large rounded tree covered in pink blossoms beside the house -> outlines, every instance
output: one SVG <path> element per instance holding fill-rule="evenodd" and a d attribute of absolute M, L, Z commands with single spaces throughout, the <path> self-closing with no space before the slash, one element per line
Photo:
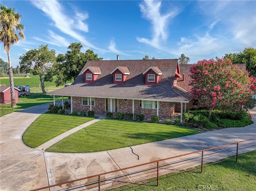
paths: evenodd
<path fill-rule="evenodd" d="M 194 99 L 198 106 L 212 110 L 248 110 L 256 105 L 252 94 L 256 92 L 256 78 L 248 71 L 232 65 L 230 59 L 198 61 L 190 68 Z"/>

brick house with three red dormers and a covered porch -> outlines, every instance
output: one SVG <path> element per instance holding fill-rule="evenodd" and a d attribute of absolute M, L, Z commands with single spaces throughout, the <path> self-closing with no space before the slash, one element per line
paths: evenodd
<path fill-rule="evenodd" d="M 48 95 L 70 96 L 71 112 L 130 112 L 169 118 L 192 98 L 178 59 L 99 60 L 86 65 L 68 87 Z"/>

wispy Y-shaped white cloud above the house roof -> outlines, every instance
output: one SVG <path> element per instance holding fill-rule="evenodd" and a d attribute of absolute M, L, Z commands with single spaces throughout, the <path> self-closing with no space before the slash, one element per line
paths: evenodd
<path fill-rule="evenodd" d="M 149 44 L 157 49 L 161 49 L 161 41 L 166 41 L 168 31 L 166 30 L 170 18 L 174 18 L 178 14 L 178 9 L 173 8 L 172 11 L 161 14 L 161 2 L 154 0 L 145 0 L 140 4 L 142 16 L 148 19 L 152 24 L 153 37 L 152 39 L 137 37 L 141 43 Z"/>

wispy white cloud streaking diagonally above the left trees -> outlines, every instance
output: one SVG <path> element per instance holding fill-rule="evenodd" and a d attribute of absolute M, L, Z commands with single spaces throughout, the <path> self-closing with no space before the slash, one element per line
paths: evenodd
<path fill-rule="evenodd" d="M 77 29 L 88 32 L 88 26 L 83 22 L 83 20 L 88 18 L 88 14 L 80 14 L 76 12 L 74 18 L 70 18 L 64 14 L 61 4 L 56 0 L 32 0 L 32 3 L 38 9 L 42 10 L 46 16 L 53 21 L 53 25 L 61 32 L 77 39 L 83 45 L 100 50 L 100 48 L 86 40 L 84 35 L 80 35 L 77 32 Z"/>

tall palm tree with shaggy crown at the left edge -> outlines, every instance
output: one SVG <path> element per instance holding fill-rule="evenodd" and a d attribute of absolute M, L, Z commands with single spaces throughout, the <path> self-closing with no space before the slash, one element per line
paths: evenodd
<path fill-rule="evenodd" d="M 20 41 L 19 36 L 25 40 L 25 35 L 23 33 L 25 27 L 24 25 L 20 24 L 21 15 L 19 13 L 15 13 L 14 8 L 7 8 L 1 4 L 0 9 L 0 41 L 4 44 L 4 51 L 8 54 L 12 107 L 17 107 L 14 92 L 10 49 L 11 45 Z"/>

